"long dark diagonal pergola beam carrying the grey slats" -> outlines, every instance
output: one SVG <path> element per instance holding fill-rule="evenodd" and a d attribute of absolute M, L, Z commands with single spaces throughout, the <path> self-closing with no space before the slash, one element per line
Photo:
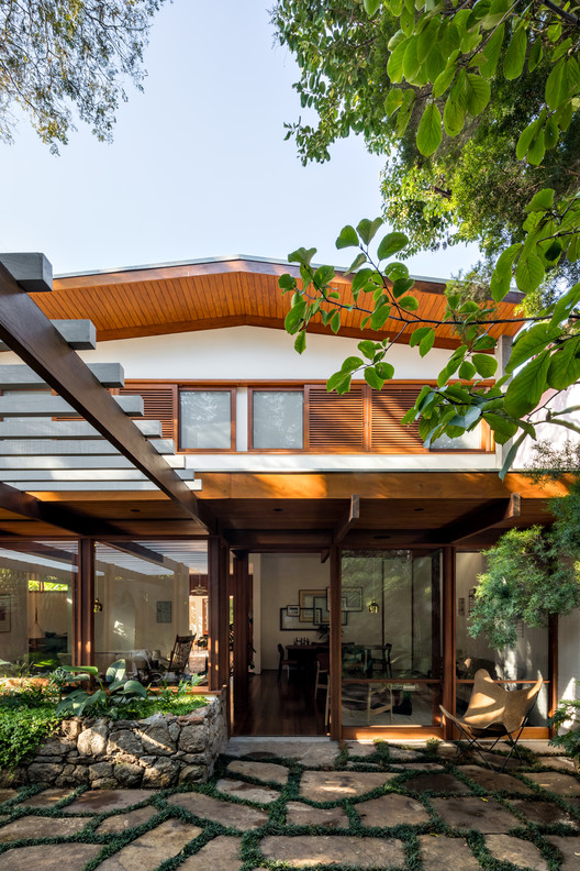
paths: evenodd
<path fill-rule="evenodd" d="M 81 417 L 126 456 L 200 528 L 212 516 L 127 420 L 83 361 L 0 263 L 0 339 Z"/>

